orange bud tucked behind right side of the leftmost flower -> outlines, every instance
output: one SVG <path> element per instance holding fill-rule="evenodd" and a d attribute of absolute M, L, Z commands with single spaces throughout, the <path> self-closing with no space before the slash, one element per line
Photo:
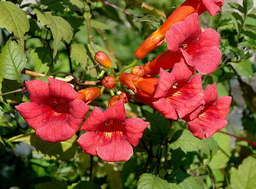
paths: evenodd
<path fill-rule="evenodd" d="M 91 103 L 94 99 L 101 96 L 101 89 L 99 87 L 88 87 L 78 92 L 77 100 L 82 100 L 86 104 Z"/>

